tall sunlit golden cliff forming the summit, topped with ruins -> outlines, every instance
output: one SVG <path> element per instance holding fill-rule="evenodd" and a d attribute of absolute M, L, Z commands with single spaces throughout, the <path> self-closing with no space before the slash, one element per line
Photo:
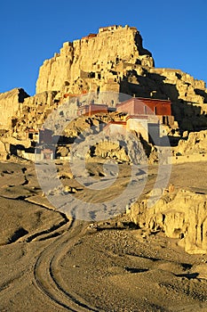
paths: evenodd
<path fill-rule="evenodd" d="M 142 47 L 139 31 L 128 26 L 105 29 L 95 36 L 67 42 L 46 60 L 39 71 L 36 93 L 63 90 L 81 94 L 100 91 L 117 85 L 123 67 L 133 65 L 153 67 L 151 53 Z M 120 66 L 121 70 L 116 70 Z M 118 91 L 118 90 L 116 90 Z"/>

